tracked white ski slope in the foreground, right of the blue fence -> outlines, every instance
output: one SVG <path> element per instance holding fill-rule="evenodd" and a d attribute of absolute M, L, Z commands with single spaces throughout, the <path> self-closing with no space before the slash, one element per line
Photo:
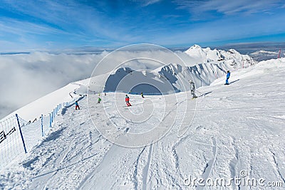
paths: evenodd
<path fill-rule="evenodd" d="M 101 95 L 101 104 L 88 105 L 87 98 L 83 98 L 79 102 L 81 110 L 66 107 L 56 117 L 48 137 L 26 157 L 1 171 L 0 189 L 219 189 L 188 182 L 195 177 L 242 178 L 241 171 L 251 179 L 264 178 L 265 186 L 270 181 L 285 186 L 284 75 L 284 58 L 236 70 L 230 85 L 224 85 L 224 78 L 219 78 L 199 88 L 204 96 L 197 98 L 197 107 L 190 104 L 191 109 L 186 111 L 173 109 L 177 114 L 163 101 L 175 100 L 170 107 L 183 107 L 195 102 L 185 100 L 189 92 L 146 95 L 145 99 L 130 95 L 132 107 L 123 106 L 123 93 Z M 88 95 L 88 102 L 95 102 L 97 97 Z M 113 105 L 118 105 L 117 109 Z M 192 108 L 195 117 L 190 127 L 177 137 L 182 115 L 193 115 Z M 153 112 L 145 122 L 135 122 L 145 116 L 141 112 L 150 110 Z M 104 112 L 110 117 L 104 117 Z M 123 117 L 125 113 L 128 120 Z M 116 124 L 125 133 L 151 130 L 162 117 L 174 120 L 174 125 L 157 142 L 128 148 L 105 139 L 90 116 L 97 127 Z M 249 188 L 261 186 L 227 186 Z"/>

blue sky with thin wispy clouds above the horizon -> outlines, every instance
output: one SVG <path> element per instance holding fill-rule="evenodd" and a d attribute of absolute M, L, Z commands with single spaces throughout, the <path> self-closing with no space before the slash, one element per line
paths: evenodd
<path fill-rule="evenodd" d="M 284 0 L 0 3 L 0 52 L 285 41 Z"/>

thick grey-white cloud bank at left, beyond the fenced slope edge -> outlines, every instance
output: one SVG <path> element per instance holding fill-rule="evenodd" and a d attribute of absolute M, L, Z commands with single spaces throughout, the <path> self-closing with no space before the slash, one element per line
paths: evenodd
<path fill-rule="evenodd" d="M 0 107 L 6 107 L 6 112 L 2 110 L 0 116 L 73 80 L 87 78 L 96 58 L 100 57 L 49 53 L 1 55 Z"/>

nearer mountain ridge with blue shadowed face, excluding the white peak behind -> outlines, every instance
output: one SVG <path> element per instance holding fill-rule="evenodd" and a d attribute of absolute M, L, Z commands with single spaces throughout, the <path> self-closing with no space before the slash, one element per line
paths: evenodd
<path fill-rule="evenodd" d="M 230 69 L 232 66 L 223 63 L 202 63 L 192 67 L 170 63 L 156 70 L 118 68 L 112 73 L 91 78 L 89 90 L 95 93 L 143 92 L 145 95 L 179 93 L 190 90 L 189 80 L 194 80 L 197 87 L 209 85 Z M 88 82 L 88 80 L 81 81 L 83 85 L 87 85 Z"/>

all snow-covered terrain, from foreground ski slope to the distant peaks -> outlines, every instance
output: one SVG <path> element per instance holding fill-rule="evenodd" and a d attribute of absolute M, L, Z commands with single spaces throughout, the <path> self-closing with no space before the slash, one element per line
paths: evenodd
<path fill-rule="evenodd" d="M 197 45 L 180 54 L 184 65 L 122 65 L 14 112 L 33 120 L 81 97 L 80 110 L 62 107 L 27 154 L 1 164 L 0 189 L 284 188 L 285 58 Z"/>

